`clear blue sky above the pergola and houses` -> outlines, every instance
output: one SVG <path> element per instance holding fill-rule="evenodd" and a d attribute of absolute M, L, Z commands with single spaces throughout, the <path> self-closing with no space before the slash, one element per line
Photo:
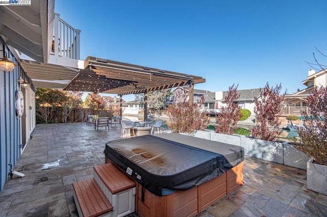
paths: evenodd
<path fill-rule="evenodd" d="M 176 71 L 206 79 L 196 89 L 227 90 L 282 83 L 288 93 L 327 54 L 325 0 L 120 0 L 55 2 L 81 30 L 87 56 Z M 133 95 L 123 97 L 133 100 Z"/>

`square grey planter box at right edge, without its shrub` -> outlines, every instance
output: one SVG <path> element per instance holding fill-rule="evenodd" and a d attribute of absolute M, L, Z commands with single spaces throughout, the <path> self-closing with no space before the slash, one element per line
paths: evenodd
<path fill-rule="evenodd" d="M 307 188 L 320 194 L 327 195 L 327 166 L 307 162 Z"/>

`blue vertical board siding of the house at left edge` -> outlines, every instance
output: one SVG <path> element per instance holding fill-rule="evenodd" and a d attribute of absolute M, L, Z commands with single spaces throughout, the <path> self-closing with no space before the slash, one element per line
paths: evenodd
<path fill-rule="evenodd" d="M 15 95 L 18 78 L 25 71 L 22 71 L 21 66 L 2 39 L 0 43 L 2 45 L 2 49 L 0 50 L 4 50 L 9 59 L 17 64 L 15 69 L 10 73 L 0 70 L 0 190 L 2 190 L 5 182 L 8 180 L 8 173 L 10 172 L 9 164 L 14 167 L 21 154 L 21 120 L 16 115 Z"/>

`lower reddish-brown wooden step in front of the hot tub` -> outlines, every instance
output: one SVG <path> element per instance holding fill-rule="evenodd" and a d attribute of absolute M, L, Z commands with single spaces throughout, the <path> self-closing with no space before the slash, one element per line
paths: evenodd
<path fill-rule="evenodd" d="M 94 178 L 73 183 L 74 200 L 80 217 L 111 216 L 111 203 Z"/>

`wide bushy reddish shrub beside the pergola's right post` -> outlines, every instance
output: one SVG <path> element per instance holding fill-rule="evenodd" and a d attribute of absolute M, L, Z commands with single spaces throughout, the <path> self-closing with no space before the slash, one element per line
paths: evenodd
<path fill-rule="evenodd" d="M 202 111 L 204 97 L 190 105 L 185 94 L 186 91 L 175 92 L 174 102 L 167 109 L 173 133 L 193 133 L 195 130 L 204 130 L 209 124 L 206 111 Z M 181 102 L 181 99 L 184 101 Z"/>

